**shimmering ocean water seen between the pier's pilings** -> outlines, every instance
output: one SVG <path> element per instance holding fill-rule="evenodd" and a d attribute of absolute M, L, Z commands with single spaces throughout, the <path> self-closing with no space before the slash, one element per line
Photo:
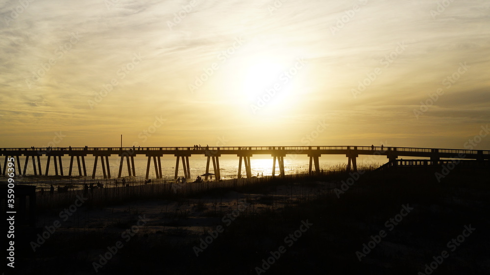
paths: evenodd
<path fill-rule="evenodd" d="M 338 156 L 337 156 L 338 157 Z M 42 174 L 45 175 L 46 172 L 46 164 L 47 164 L 47 157 L 41 157 L 41 169 L 42 169 Z M 92 172 L 94 169 L 94 160 L 95 157 L 93 156 L 87 156 L 85 157 L 85 165 L 86 165 L 86 170 L 87 170 L 87 178 L 92 177 Z M 24 163 L 25 163 L 25 157 L 22 156 L 20 158 L 21 161 L 21 169 L 22 172 L 24 171 Z M 109 157 L 109 167 L 110 167 L 110 172 L 111 172 L 111 178 L 117 178 L 119 174 L 119 164 L 120 164 L 121 159 L 118 156 L 111 156 Z M 332 167 L 336 167 L 338 165 L 346 165 L 347 158 L 323 158 L 320 157 L 319 159 L 319 165 L 320 169 L 328 170 Z M 80 160 L 81 162 L 81 160 Z M 176 160 L 174 159 L 162 159 L 161 164 L 162 164 L 162 175 L 163 179 L 170 180 L 173 179 L 174 174 L 175 174 L 175 163 Z M 70 158 L 65 156 L 62 158 L 62 163 L 63 163 L 63 174 L 65 176 L 68 176 L 69 174 L 69 166 L 70 166 Z M 252 176 L 271 176 L 272 175 L 272 163 L 273 160 L 272 158 L 270 159 L 259 159 L 259 158 L 250 158 L 250 163 L 251 163 L 251 172 Z M 17 167 L 19 167 L 19 163 L 15 163 Z M 134 159 L 134 164 L 135 164 L 135 172 L 136 172 L 136 177 L 145 177 L 146 175 L 146 170 L 147 170 L 147 158 L 146 157 L 136 157 Z M 3 169 L 3 158 L 1 160 L 1 165 Z M 37 165 L 37 160 L 36 160 L 36 165 Z M 239 158 L 237 157 L 236 159 L 233 158 L 220 158 L 220 172 L 221 172 L 221 179 L 234 179 L 237 178 L 238 175 L 238 165 L 239 165 Z M 189 158 L 189 166 L 190 166 L 190 171 L 191 171 L 191 179 L 195 179 L 197 176 L 200 176 L 204 173 L 206 173 L 206 158 L 205 157 L 191 157 Z M 300 172 L 307 172 L 308 171 L 308 166 L 309 166 L 309 160 L 308 159 L 291 159 L 288 157 L 284 158 L 284 169 L 285 173 L 288 174 L 295 174 L 295 173 L 300 173 Z M 37 166 L 36 166 L 37 167 Z M 78 166 L 76 162 L 76 158 L 73 159 L 73 171 L 72 171 L 72 176 L 78 176 Z M 314 166 L 313 166 L 313 169 Z M 83 170 L 83 168 L 82 168 Z M 214 173 L 213 170 L 213 162 L 210 161 L 210 167 L 209 167 L 209 172 Z M 39 175 L 39 171 L 37 171 Z M 83 173 L 83 171 L 82 171 Z M 276 162 L 276 169 L 275 169 L 275 174 L 279 175 L 279 164 Z M 27 164 L 27 169 L 26 169 L 26 176 L 29 175 L 34 175 L 34 169 L 32 165 L 32 159 L 29 158 L 28 164 Z M 51 159 L 50 164 L 49 164 L 49 176 L 55 175 L 55 170 L 54 170 L 54 161 Z M 123 162 L 123 171 L 121 174 L 121 177 L 126 177 L 128 176 L 127 172 L 127 164 L 126 160 L 124 159 Z M 182 167 L 182 161 L 179 162 L 179 169 L 178 169 L 178 177 L 183 177 L 184 176 L 184 170 Z M 245 177 L 245 163 L 242 162 L 242 176 Z M 97 163 L 97 170 L 96 170 L 96 178 L 102 179 L 103 178 L 103 173 L 102 173 L 102 165 L 100 163 L 100 158 L 98 159 Z M 151 159 L 150 162 L 150 170 L 149 170 L 149 178 L 154 179 L 156 178 L 155 174 L 155 168 L 153 165 L 153 159 Z"/>

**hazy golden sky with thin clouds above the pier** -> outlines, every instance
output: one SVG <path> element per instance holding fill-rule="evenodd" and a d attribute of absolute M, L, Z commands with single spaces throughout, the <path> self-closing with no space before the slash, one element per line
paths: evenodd
<path fill-rule="evenodd" d="M 489 68 L 488 0 L 1 1 L 0 147 L 489 150 Z"/>

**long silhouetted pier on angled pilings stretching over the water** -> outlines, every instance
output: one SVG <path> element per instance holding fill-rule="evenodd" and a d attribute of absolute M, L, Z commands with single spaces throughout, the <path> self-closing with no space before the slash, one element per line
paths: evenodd
<path fill-rule="evenodd" d="M 387 166 L 402 165 L 400 157 L 426 158 L 417 165 L 440 163 L 442 159 L 451 160 L 490 160 L 490 150 L 464 150 L 464 149 L 438 149 L 438 148 L 412 148 L 412 147 L 379 147 L 379 146 L 244 146 L 244 147 L 56 147 L 56 148 L 0 148 L 0 156 L 4 156 L 3 165 L 0 165 L 0 174 L 7 172 L 7 159 L 15 158 L 18 165 L 15 166 L 16 174 L 25 175 L 28 165 L 32 165 L 34 175 L 43 175 L 41 156 L 47 156 L 44 176 L 49 176 L 49 163 L 54 161 L 54 175 L 64 176 L 62 160 L 70 157 L 68 176 L 73 175 L 73 165 L 76 159 L 78 176 L 87 176 L 86 157 L 95 157 L 92 178 L 95 179 L 98 168 L 98 160 L 104 179 L 112 177 L 109 167 L 109 157 L 118 155 L 120 166 L 118 178 L 121 177 L 124 160 L 129 176 L 136 176 L 134 157 L 144 155 L 147 157 L 146 179 L 148 179 L 151 166 L 155 169 L 156 177 L 162 178 L 161 158 L 164 155 L 173 155 L 175 161 L 175 176 L 178 176 L 180 162 L 184 171 L 184 177 L 191 178 L 189 158 L 201 155 L 207 158 L 206 174 L 209 174 L 211 162 L 215 179 L 220 180 L 220 157 L 222 155 L 236 155 L 238 157 L 238 177 L 241 177 L 242 163 L 244 164 L 247 178 L 252 177 L 250 158 L 254 155 L 268 155 L 272 157 L 272 175 L 275 175 L 276 162 L 279 175 L 284 176 L 284 157 L 288 155 L 304 155 L 309 157 L 308 172 L 319 173 L 319 158 L 322 155 L 343 155 L 347 158 L 347 171 L 357 171 L 357 158 L 360 155 L 386 156 Z M 21 168 L 21 157 L 25 157 L 24 167 Z M 29 161 L 30 160 L 30 161 Z M 37 162 L 36 162 L 37 160 Z M 30 163 L 29 163 L 30 162 Z M 416 163 L 416 162 L 413 162 Z M 418 163 L 418 162 L 417 162 Z M 3 167 L 1 167 L 3 166 Z M 207 176 L 205 180 L 207 180 Z"/>

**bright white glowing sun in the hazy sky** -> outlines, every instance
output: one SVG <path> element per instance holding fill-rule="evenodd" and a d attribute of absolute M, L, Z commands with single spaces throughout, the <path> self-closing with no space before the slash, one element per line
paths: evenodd
<path fill-rule="evenodd" d="M 292 115 L 307 87 L 305 66 L 297 57 L 247 52 L 227 64 L 222 79 L 226 100 L 240 119 L 279 119 Z"/>

